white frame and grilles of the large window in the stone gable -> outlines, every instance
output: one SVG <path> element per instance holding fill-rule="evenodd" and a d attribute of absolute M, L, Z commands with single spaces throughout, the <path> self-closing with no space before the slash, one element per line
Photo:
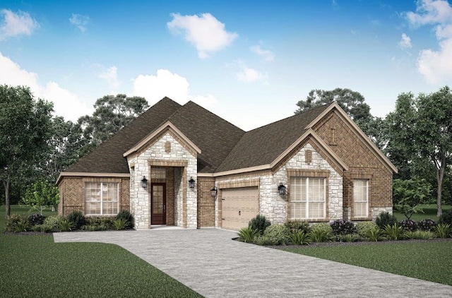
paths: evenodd
<path fill-rule="evenodd" d="M 302 198 L 302 196 L 299 196 L 299 198 L 295 198 L 295 179 L 299 179 L 300 187 L 302 180 L 305 180 L 305 198 Z M 316 179 L 316 180 L 322 180 L 323 181 L 323 200 L 322 201 L 312 201 L 309 200 L 309 181 Z M 290 177 L 291 181 L 291 187 L 292 191 L 290 191 L 290 204 L 291 204 L 291 211 L 290 211 L 290 218 L 292 220 L 323 220 L 326 218 L 326 178 L 325 177 Z M 302 191 L 300 191 L 302 193 Z M 294 210 L 297 204 L 299 203 L 306 203 L 304 208 L 304 216 L 301 217 L 295 217 L 293 216 Z M 323 203 L 323 209 L 321 212 L 323 213 L 323 217 L 312 217 L 309 214 L 309 203 Z"/>

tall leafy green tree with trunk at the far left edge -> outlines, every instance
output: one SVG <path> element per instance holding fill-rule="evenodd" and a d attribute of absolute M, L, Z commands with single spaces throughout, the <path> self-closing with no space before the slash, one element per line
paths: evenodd
<path fill-rule="evenodd" d="M 0 85 L 0 179 L 6 217 L 11 212 L 11 184 L 20 185 L 47 149 L 52 108 L 52 103 L 35 100 L 30 88 Z"/>

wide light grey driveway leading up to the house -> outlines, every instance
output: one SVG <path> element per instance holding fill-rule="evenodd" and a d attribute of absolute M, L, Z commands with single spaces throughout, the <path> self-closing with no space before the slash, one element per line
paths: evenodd
<path fill-rule="evenodd" d="M 205 297 L 452 297 L 452 287 L 232 241 L 216 229 L 54 233 L 124 247 Z"/>

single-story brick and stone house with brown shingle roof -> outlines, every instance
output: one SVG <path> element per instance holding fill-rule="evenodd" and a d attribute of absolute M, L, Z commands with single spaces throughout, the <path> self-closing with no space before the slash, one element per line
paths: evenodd
<path fill-rule="evenodd" d="M 373 220 L 396 172 L 335 102 L 246 132 L 165 97 L 61 172 L 58 211 L 130 210 L 137 229 Z"/>

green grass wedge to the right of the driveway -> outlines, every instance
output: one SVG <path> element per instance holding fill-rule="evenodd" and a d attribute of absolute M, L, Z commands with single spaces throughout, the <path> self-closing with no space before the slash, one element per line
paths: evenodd
<path fill-rule="evenodd" d="M 286 248 L 296 254 L 452 285 L 452 242 Z"/>

